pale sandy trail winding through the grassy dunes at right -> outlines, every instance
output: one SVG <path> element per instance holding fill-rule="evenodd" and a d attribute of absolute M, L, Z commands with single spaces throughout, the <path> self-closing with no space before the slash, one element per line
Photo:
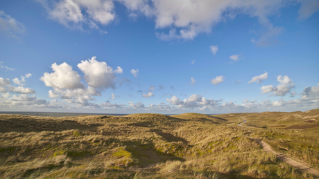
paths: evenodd
<path fill-rule="evenodd" d="M 241 117 L 241 119 L 243 119 L 244 122 L 241 122 L 240 124 L 238 124 L 238 126 L 246 127 L 246 126 L 242 126 L 241 125 L 241 124 L 245 123 L 246 120 L 243 117 Z M 250 137 L 248 137 L 248 138 L 250 138 Z M 254 139 L 254 138 L 250 138 L 250 139 L 255 140 L 256 142 L 258 142 L 261 145 L 261 147 L 264 148 L 264 151 L 269 151 L 269 152 L 274 153 L 279 160 L 282 160 L 283 162 L 286 162 L 287 164 L 290 164 L 293 167 L 296 167 L 296 168 L 301 169 L 303 171 L 307 171 L 307 172 L 313 174 L 314 176 L 318 176 L 319 177 L 319 171 L 318 170 L 312 169 L 310 167 L 307 167 L 306 165 L 301 164 L 300 162 L 297 162 L 297 161 L 295 161 L 295 160 L 293 160 L 291 158 L 288 158 L 288 157 L 284 156 L 282 153 L 277 153 L 277 152 L 273 151 L 273 149 L 271 149 L 271 147 L 268 144 L 266 144 L 266 142 L 263 142 L 261 140 Z"/>

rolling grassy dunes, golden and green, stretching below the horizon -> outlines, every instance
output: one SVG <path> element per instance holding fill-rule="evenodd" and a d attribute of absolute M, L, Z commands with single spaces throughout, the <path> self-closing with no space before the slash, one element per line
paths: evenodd
<path fill-rule="evenodd" d="M 248 120 L 243 125 L 255 128 L 237 126 L 243 122 L 239 117 Z M 0 115 L 0 176 L 316 178 L 278 160 L 246 136 L 319 169 L 318 122 L 318 109 L 123 117 Z"/>

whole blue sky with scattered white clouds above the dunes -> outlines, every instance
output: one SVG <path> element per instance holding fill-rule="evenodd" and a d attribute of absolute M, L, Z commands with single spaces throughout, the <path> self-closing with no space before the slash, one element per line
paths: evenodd
<path fill-rule="evenodd" d="M 319 0 L 0 1 L 0 111 L 319 108 Z"/>

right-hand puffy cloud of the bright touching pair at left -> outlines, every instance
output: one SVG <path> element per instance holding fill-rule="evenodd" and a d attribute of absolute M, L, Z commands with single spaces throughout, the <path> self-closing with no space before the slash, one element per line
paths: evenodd
<path fill-rule="evenodd" d="M 78 68 L 85 74 L 84 79 L 89 86 L 105 90 L 107 88 L 115 88 L 114 80 L 116 79 L 115 73 L 123 73 L 120 66 L 117 70 L 107 66 L 105 62 L 96 61 L 96 57 L 92 57 L 89 61 L 81 61 Z"/>

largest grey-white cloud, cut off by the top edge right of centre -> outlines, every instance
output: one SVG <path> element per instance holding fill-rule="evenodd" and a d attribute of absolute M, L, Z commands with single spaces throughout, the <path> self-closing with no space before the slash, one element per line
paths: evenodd
<path fill-rule="evenodd" d="M 286 6 L 286 1 L 192 1 L 186 0 L 154 0 L 135 1 L 134 8 L 129 3 L 126 7 L 140 11 L 147 17 L 155 17 L 155 28 L 171 28 L 169 34 L 156 33 L 162 40 L 193 39 L 200 33 L 209 33 L 212 26 L 238 14 L 248 14 L 250 17 L 258 17 L 259 23 L 266 28 L 264 37 L 272 37 L 278 27 L 270 27 L 267 19 L 270 15 L 279 14 L 279 8 Z M 268 20 L 268 21 L 266 21 Z M 178 30 L 176 30 L 178 29 Z M 177 32 L 178 31 L 178 32 Z M 259 39 L 261 41 L 262 39 Z M 260 43 L 262 44 L 262 43 Z"/>

